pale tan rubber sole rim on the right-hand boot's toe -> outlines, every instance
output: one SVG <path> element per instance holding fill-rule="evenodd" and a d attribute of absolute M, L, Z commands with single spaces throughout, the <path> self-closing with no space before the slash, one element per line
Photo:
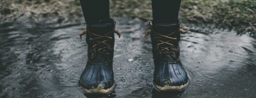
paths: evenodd
<path fill-rule="evenodd" d="M 155 85 L 154 82 L 152 83 L 152 85 L 159 92 L 182 91 L 182 90 L 184 90 L 185 88 L 188 87 L 189 80 L 186 84 L 183 84 L 183 85 L 180 85 L 180 86 L 164 86 L 164 87 L 161 87 L 161 86 Z"/>

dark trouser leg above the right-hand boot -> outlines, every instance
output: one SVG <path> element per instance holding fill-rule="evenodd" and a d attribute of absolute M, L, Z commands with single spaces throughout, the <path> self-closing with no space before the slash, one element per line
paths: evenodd
<path fill-rule="evenodd" d="M 181 0 L 151 0 L 154 24 L 178 21 Z"/>

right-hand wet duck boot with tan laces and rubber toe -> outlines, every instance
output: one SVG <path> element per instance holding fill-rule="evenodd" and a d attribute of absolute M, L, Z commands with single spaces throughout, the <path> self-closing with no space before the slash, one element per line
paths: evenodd
<path fill-rule="evenodd" d="M 155 64 L 153 86 L 158 91 L 180 91 L 188 86 L 188 75 L 180 61 L 180 23 L 152 24 L 150 34 Z M 145 37 L 146 37 L 145 36 Z"/>

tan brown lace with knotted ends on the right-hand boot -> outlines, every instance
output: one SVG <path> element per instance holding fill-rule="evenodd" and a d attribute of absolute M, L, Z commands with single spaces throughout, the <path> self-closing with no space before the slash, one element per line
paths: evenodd
<path fill-rule="evenodd" d="M 188 29 L 188 30 L 179 29 L 179 32 L 182 33 L 182 34 L 185 34 L 185 33 L 187 33 L 188 31 L 189 31 L 189 29 Z M 177 38 L 172 38 L 172 37 L 169 37 L 169 36 L 172 35 L 172 34 L 174 34 L 175 32 L 177 32 L 177 30 L 174 31 L 174 32 L 172 32 L 172 33 L 170 33 L 170 34 L 162 35 L 162 34 L 159 34 L 159 33 L 157 33 L 157 32 L 154 32 L 154 31 L 152 32 L 152 30 L 150 29 L 150 30 L 148 30 L 148 31 L 146 32 L 145 38 L 146 38 L 149 34 L 153 33 L 153 34 L 156 36 L 154 39 L 156 39 L 156 41 L 157 41 L 156 49 L 157 49 L 157 51 L 158 51 L 158 54 L 170 54 L 170 53 L 172 53 L 173 55 L 175 55 L 174 52 L 170 52 L 169 47 L 162 47 L 162 46 L 160 46 L 160 45 L 163 45 L 163 44 L 167 44 L 167 45 L 169 45 L 169 46 L 173 46 L 173 44 L 172 44 L 171 41 L 172 41 L 172 40 L 175 40 L 175 39 L 177 39 Z M 161 38 L 167 38 L 167 39 L 170 39 L 170 40 L 168 40 L 168 41 L 162 41 L 162 40 L 160 40 Z M 162 53 L 162 51 L 164 51 L 164 50 L 167 50 L 167 51 L 169 51 L 169 52 Z"/>

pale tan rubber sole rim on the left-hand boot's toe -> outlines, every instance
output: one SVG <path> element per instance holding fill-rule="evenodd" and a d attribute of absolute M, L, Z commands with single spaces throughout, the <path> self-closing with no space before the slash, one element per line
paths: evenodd
<path fill-rule="evenodd" d="M 108 89 L 103 89 L 102 85 L 99 84 L 99 86 L 95 89 L 86 89 L 83 88 L 80 85 L 80 81 L 78 82 L 78 87 L 81 88 L 81 90 L 85 93 L 85 94 L 89 94 L 89 95 L 106 95 L 106 94 L 111 94 L 115 88 L 116 88 L 116 82 L 113 84 L 112 87 L 108 88 Z"/>

